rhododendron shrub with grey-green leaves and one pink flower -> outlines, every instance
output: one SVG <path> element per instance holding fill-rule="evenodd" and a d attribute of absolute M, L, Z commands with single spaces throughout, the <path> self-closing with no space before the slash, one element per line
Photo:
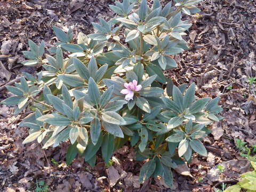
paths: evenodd
<path fill-rule="evenodd" d="M 97 154 L 108 163 L 127 145 L 145 162 L 140 181 L 159 175 L 171 187 L 172 168 L 194 152 L 206 156 L 207 125 L 222 119 L 219 97 L 198 98 L 194 83 L 174 85 L 163 74 L 177 67 L 173 55 L 188 49 L 182 36 L 191 24 L 181 18 L 198 12 L 200 1 L 117 1 L 110 9 L 118 16 L 92 23 L 93 34 L 75 39 L 71 28 L 53 27 L 59 42 L 47 54 L 44 42 L 29 41 L 23 64 L 44 70 L 23 73 L 20 83 L 6 86 L 13 97 L 1 102 L 17 105 L 14 114 L 32 112 L 20 123 L 29 127 L 23 143 L 68 141 L 67 164 L 82 156 L 91 166 Z"/>

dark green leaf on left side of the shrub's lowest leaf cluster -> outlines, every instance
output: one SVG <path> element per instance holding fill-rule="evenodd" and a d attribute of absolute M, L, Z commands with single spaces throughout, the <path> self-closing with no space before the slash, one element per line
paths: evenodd
<path fill-rule="evenodd" d="M 150 159 L 141 167 L 139 181 L 140 182 L 146 181 L 154 173 L 155 169 L 156 169 L 155 159 Z"/>

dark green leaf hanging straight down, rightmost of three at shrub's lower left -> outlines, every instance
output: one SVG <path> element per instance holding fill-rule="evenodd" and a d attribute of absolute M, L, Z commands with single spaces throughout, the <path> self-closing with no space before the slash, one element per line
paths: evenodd
<path fill-rule="evenodd" d="M 106 133 L 103 137 L 103 142 L 101 145 L 101 153 L 105 163 L 109 162 L 112 154 L 114 152 L 114 136 Z"/>

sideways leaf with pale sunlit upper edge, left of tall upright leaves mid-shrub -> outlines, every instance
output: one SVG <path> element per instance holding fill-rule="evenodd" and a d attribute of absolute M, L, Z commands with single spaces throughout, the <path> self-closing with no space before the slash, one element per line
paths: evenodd
<path fill-rule="evenodd" d="M 78 87 L 84 86 L 84 79 L 78 75 L 60 74 L 58 77 L 68 86 Z"/>

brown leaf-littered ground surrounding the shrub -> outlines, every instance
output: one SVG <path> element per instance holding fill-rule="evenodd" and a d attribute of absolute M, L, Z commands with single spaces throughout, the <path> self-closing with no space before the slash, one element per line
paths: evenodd
<path fill-rule="evenodd" d="M 28 38 L 36 43 L 44 39 L 50 47 L 56 41 L 52 25 L 64 29 L 75 26 L 75 34 L 79 31 L 89 34 L 90 23 L 97 22 L 97 17 L 113 17 L 107 8 L 113 2 L 0 2 L 0 90 L 21 72 L 36 72 L 36 68 L 20 63 L 25 59 L 21 51 L 27 50 Z M 13 107 L 1 106 L 0 191 L 35 191 L 36 182 L 40 180 L 47 183 L 49 191 L 62 192 L 213 191 L 218 183 L 235 182 L 234 179 L 247 170 L 248 162 L 237 153 L 234 139 L 256 145 L 255 85 L 247 83 L 248 77 L 255 77 L 256 73 L 256 3 L 254 0 L 205 0 L 199 7 L 201 15 L 190 18 L 194 24 L 187 37 L 191 49 L 175 57 L 179 68 L 167 71 L 166 75 L 177 84 L 195 82 L 198 96 L 220 95 L 224 109 L 221 115 L 225 119 L 212 126 L 212 134 L 204 141 L 208 157 L 194 155 L 188 166 L 173 171 L 174 190 L 168 189 L 162 179 L 140 185 L 141 163 L 129 160 L 134 154 L 126 146 L 114 155 L 114 166 L 106 167 L 99 156 L 94 169 L 79 158 L 66 166 L 67 143 L 44 151 L 38 143 L 23 146 L 27 129 L 18 125 L 25 114 L 14 117 Z M 0 100 L 6 97 L 10 97 L 10 93 L 1 90 Z M 56 164 L 51 162 L 52 158 Z M 217 165 L 223 167 L 222 172 Z"/>

